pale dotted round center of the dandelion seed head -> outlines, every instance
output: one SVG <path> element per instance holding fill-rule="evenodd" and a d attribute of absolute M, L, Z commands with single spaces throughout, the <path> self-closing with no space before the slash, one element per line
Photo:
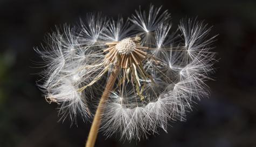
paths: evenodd
<path fill-rule="evenodd" d="M 129 54 L 135 50 L 136 44 L 131 38 L 126 38 L 116 44 L 116 50 L 120 54 Z"/>

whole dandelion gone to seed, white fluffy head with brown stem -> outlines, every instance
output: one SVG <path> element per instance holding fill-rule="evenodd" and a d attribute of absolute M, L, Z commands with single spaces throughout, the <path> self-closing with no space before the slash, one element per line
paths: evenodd
<path fill-rule="evenodd" d="M 86 146 L 94 146 L 99 129 L 128 140 L 167 131 L 169 121 L 185 120 L 192 103 L 208 96 L 205 81 L 216 62 L 211 28 L 182 19 L 171 30 L 170 13 L 153 5 L 126 21 L 90 13 L 36 49 L 47 62 L 40 87 L 61 118 L 94 116 Z"/>

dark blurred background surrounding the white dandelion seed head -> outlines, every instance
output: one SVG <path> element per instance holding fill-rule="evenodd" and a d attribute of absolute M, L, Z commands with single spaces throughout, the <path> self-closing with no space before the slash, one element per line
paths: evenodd
<path fill-rule="evenodd" d="M 58 122 L 56 104 L 48 104 L 36 86 L 39 46 L 55 25 L 78 24 L 87 12 L 128 17 L 150 3 L 168 9 L 173 26 L 197 17 L 219 34 L 215 50 L 216 81 L 186 122 L 170 123 L 168 134 L 140 142 L 120 142 L 99 135 L 95 146 L 256 146 L 256 2 L 253 1 L 0 1 L 0 146 L 85 145 L 91 123 Z"/>

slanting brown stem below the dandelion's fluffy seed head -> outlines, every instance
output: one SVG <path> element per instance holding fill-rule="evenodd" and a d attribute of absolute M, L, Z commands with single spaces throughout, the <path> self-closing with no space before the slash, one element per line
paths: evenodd
<path fill-rule="evenodd" d="M 109 93 L 113 89 L 114 83 L 117 79 L 117 75 L 119 74 L 120 71 L 120 63 L 117 63 L 114 67 L 114 70 L 109 76 L 107 85 L 105 87 L 105 90 L 101 96 L 98 108 L 96 110 L 92 127 L 88 135 L 88 139 L 86 142 L 86 147 L 93 147 L 98 135 L 99 127 L 100 127 L 100 122 L 101 122 L 101 115 L 103 112 L 103 105 L 105 104 L 106 100 L 108 99 Z"/>

